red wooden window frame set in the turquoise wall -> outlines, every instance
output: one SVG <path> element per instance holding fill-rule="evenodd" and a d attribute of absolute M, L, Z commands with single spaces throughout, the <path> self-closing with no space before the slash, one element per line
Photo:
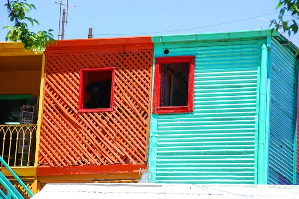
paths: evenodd
<path fill-rule="evenodd" d="M 155 72 L 153 83 L 153 114 L 188 113 L 194 110 L 194 59 L 195 56 L 161 57 L 155 59 Z M 189 63 L 188 101 L 187 106 L 160 106 L 161 99 L 161 65 L 171 63 Z"/>

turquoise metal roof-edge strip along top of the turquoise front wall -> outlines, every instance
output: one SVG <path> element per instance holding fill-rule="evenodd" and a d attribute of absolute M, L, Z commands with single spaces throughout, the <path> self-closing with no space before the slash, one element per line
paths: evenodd
<path fill-rule="evenodd" d="M 280 33 L 274 31 L 272 36 L 277 37 Z M 247 30 L 215 33 L 197 33 L 197 34 L 179 34 L 179 35 L 159 35 L 152 36 L 154 43 L 179 42 L 179 41 L 210 41 L 210 40 L 228 40 L 240 38 L 261 38 L 271 36 L 270 29 L 265 30 Z"/>

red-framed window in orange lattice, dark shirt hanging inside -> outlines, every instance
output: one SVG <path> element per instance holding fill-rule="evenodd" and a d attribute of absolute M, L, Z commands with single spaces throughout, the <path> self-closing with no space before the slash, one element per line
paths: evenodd
<path fill-rule="evenodd" d="M 80 69 L 78 112 L 113 111 L 115 69 Z"/>

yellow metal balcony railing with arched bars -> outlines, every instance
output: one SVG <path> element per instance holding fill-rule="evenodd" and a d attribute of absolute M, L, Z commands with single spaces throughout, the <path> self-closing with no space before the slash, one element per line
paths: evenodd
<path fill-rule="evenodd" d="M 36 132 L 37 125 L 0 125 L 0 152 L 10 167 L 34 166 Z"/>

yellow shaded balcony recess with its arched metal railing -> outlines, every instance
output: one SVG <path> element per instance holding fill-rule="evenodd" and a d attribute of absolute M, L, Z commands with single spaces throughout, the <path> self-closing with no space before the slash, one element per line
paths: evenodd
<path fill-rule="evenodd" d="M 44 59 L 41 54 L 25 52 L 20 43 L 2 42 L 0 63 L 0 156 L 10 167 L 22 170 L 33 167 L 35 161 Z M 22 121 L 23 106 L 34 107 L 31 122 Z M 24 118 L 28 119 L 28 116 Z M 2 164 L 1 167 L 4 170 Z"/>

